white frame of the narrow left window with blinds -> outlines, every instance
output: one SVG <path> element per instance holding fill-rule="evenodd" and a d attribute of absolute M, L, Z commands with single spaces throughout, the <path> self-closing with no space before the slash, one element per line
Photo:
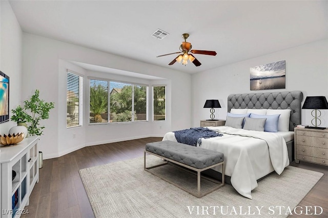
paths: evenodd
<path fill-rule="evenodd" d="M 67 107 L 68 107 L 68 101 L 67 101 L 67 92 L 68 90 L 68 74 L 72 74 L 74 76 L 78 77 L 78 123 L 75 126 L 68 126 L 67 123 Z M 70 69 L 66 69 L 66 128 L 71 129 L 71 128 L 76 128 L 76 127 L 82 127 L 83 126 L 83 112 L 84 112 L 84 105 L 83 105 L 83 98 L 84 98 L 84 76 L 79 74 L 78 72 L 75 72 Z"/>

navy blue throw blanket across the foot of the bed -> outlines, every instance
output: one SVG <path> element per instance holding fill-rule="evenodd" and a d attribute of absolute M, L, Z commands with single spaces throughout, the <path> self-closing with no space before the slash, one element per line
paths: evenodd
<path fill-rule="evenodd" d="M 190 144 L 191 146 L 201 145 L 201 138 L 212 138 L 222 136 L 220 133 L 216 133 L 208 128 L 197 127 L 185 130 L 173 131 L 175 138 L 178 142 L 183 144 Z"/>

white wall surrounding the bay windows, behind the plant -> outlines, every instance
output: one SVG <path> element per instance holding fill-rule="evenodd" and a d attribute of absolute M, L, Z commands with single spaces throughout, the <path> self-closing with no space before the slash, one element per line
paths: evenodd
<path fill-rule="evenodd" d="M 86 118 L 83 127 L 66 129 L 66 68 L 71 68 L 86 77 L 114 77 L 104 72 L 84 70 L 68 61 L 165 78 L 164 83 L 168 86 L 167 95 L 171 100 L 167 102 L 167 121 L 152 122 L 150 119 L 149 122 L 132 124 L 88 125 Z M 40 98 L 55 103 L 55 108 L 50 111 L 50 118 L 43 122 L 46 128 L 40 150 L 44 152 L 44 159 L 99 143 L 163 136 L 168 131 L 189 128 L 191 125 L 189 74 L 28 33 L 23 33 L 23 72 L 23 99 L 29 98 L 35 89 L 39 89 Z M 122 80 L 127 81 L 129 78 L 125 77 Z M 87 78 L 84 81 L 87 87 Z M 163 83 L 160 80 L 148 82 L 150 85 Z M 85 92 L 86 104 L 87 94 Z M 86 104 L 85 117 L 88 117 Z"/>

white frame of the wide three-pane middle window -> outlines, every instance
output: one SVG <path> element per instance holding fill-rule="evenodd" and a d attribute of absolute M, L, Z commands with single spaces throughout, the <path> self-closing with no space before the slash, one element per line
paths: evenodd
<path fill-rule="evenodd" d="M 106 79 L 106 78 L 99 78 L 99 77 L 88 77 L 88 116 L 90 117 L 90 80 L 100 80 L 103 82 L 107 82 L 108 83 L 108 121 L 104 122 L 104 123 L 90 123 L 90 118 L 88 118 L 88 123 L 89 125 L 107 125 L 107 124 L 131 124 L 131 123 L 139 123 L 139 122 L 148 122 L 149 121 L 149 84 L 143 84 L 143 83 L 133 83 L 133 82 L 129 82 L 129 81 L 121 81 L 121 80 L 111 80 L 111 79 Z M 111 82 L 117 82 L 117 83 L 125 83 L 125 84 L 129 84 L 131 85 L 132 88 L 132 120 L 131 121 L 125 121 L 125 122 L 110 122 L 110 83 Z M 146 120 L 134 120 L 134 86 L 145 86 L 146 87 Z"/>

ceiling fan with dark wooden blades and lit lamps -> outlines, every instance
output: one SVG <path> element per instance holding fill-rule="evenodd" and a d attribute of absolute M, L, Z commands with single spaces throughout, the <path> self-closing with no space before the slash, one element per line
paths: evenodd
<path fill-rule="evenodd" d="M 191 50 L 192 45 L 190 42 L 187 42 L 187 38 L 189 37 L 188 33 L 183 33 L 182 38 L 185 39 L 184 42 L 182 42 L 182 44 L 180 45 L 179 49 L 180 52 L 174 52 L 174 53 L 170 53 L 170 54 L 165 54 L 165 55 L 159 55 L 158 57 L 163 57 L 163 56 L 167 56 L 167 55 L 173 55 L 173 54 L 178 54 L 181 53 L 180 55 L 178 55 L 175 59 L 173 59 L 173 61 L 171 61 L 169 63 L 169 65 L 174 64 L 175 62 L 179 62 L 184 65 L 188 64 L 188 60 L 190 62 L 192 62 L 193 64 L 195 64 L 195 66 L 200 66 L 201 63 L 192 55 L 192 54 L 200 54 L 200 55 L 212 55 L 215 56 L 216 52 L 215 51 L 204 51 L 204 50 Z M 192 53 L 192 54 L 188 54 L 188 52 Z"/>

